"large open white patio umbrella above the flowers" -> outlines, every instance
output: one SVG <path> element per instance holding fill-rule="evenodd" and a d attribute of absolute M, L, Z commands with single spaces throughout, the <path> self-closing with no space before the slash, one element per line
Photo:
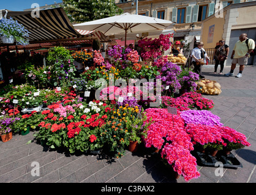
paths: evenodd
<path fill-rule="evenodd" d="M 152 18 L 143 15 L 124 13 L 122 15 L 97 19 L 86 23 L 75 24 L 75 29 L 100 30 L 106 36 L 125 34 L 125 46 L 127 32 L 143 32 L 149 30 L 164 30 L 173 24 L 171 21 L 159 18 Z"/>

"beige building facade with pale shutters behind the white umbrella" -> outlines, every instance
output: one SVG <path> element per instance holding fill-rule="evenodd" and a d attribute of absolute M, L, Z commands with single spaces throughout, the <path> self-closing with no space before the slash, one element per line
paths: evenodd
<path fill-rule="evenodd" d="M 136 13 L 137 0 L 116 0 L 116 5 L 124 12 Z M 230 4 L 248 0 L 138 0 L 138 14 L 167 19 L 175 23 L 173 40 L 186 40 L 193 49 L 195 43 L 202 41 L 202 21 L 213 16 Z M 249 0 L 252 1 L 252 0 Z M 214 43 L 216 46 L 216 43 Z M 211 45 L 211 47 L 215 47 Z"/>

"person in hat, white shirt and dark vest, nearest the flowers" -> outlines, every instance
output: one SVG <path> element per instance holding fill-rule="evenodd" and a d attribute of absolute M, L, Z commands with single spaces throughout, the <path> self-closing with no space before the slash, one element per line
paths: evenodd
<path fill-rule="evenodd" d="M 209 57 L 207 56 L 205 49 L 203 49 L 203 42 L 199 42 L 197 48 L 192 50 L 191 57 L 192 64 L 194 65 L 193 71 L 199 74 L 201 79 L 205 78 L 201 73 L 201 66 L 206 63 L 205 58 L 209 60 Z"/>

